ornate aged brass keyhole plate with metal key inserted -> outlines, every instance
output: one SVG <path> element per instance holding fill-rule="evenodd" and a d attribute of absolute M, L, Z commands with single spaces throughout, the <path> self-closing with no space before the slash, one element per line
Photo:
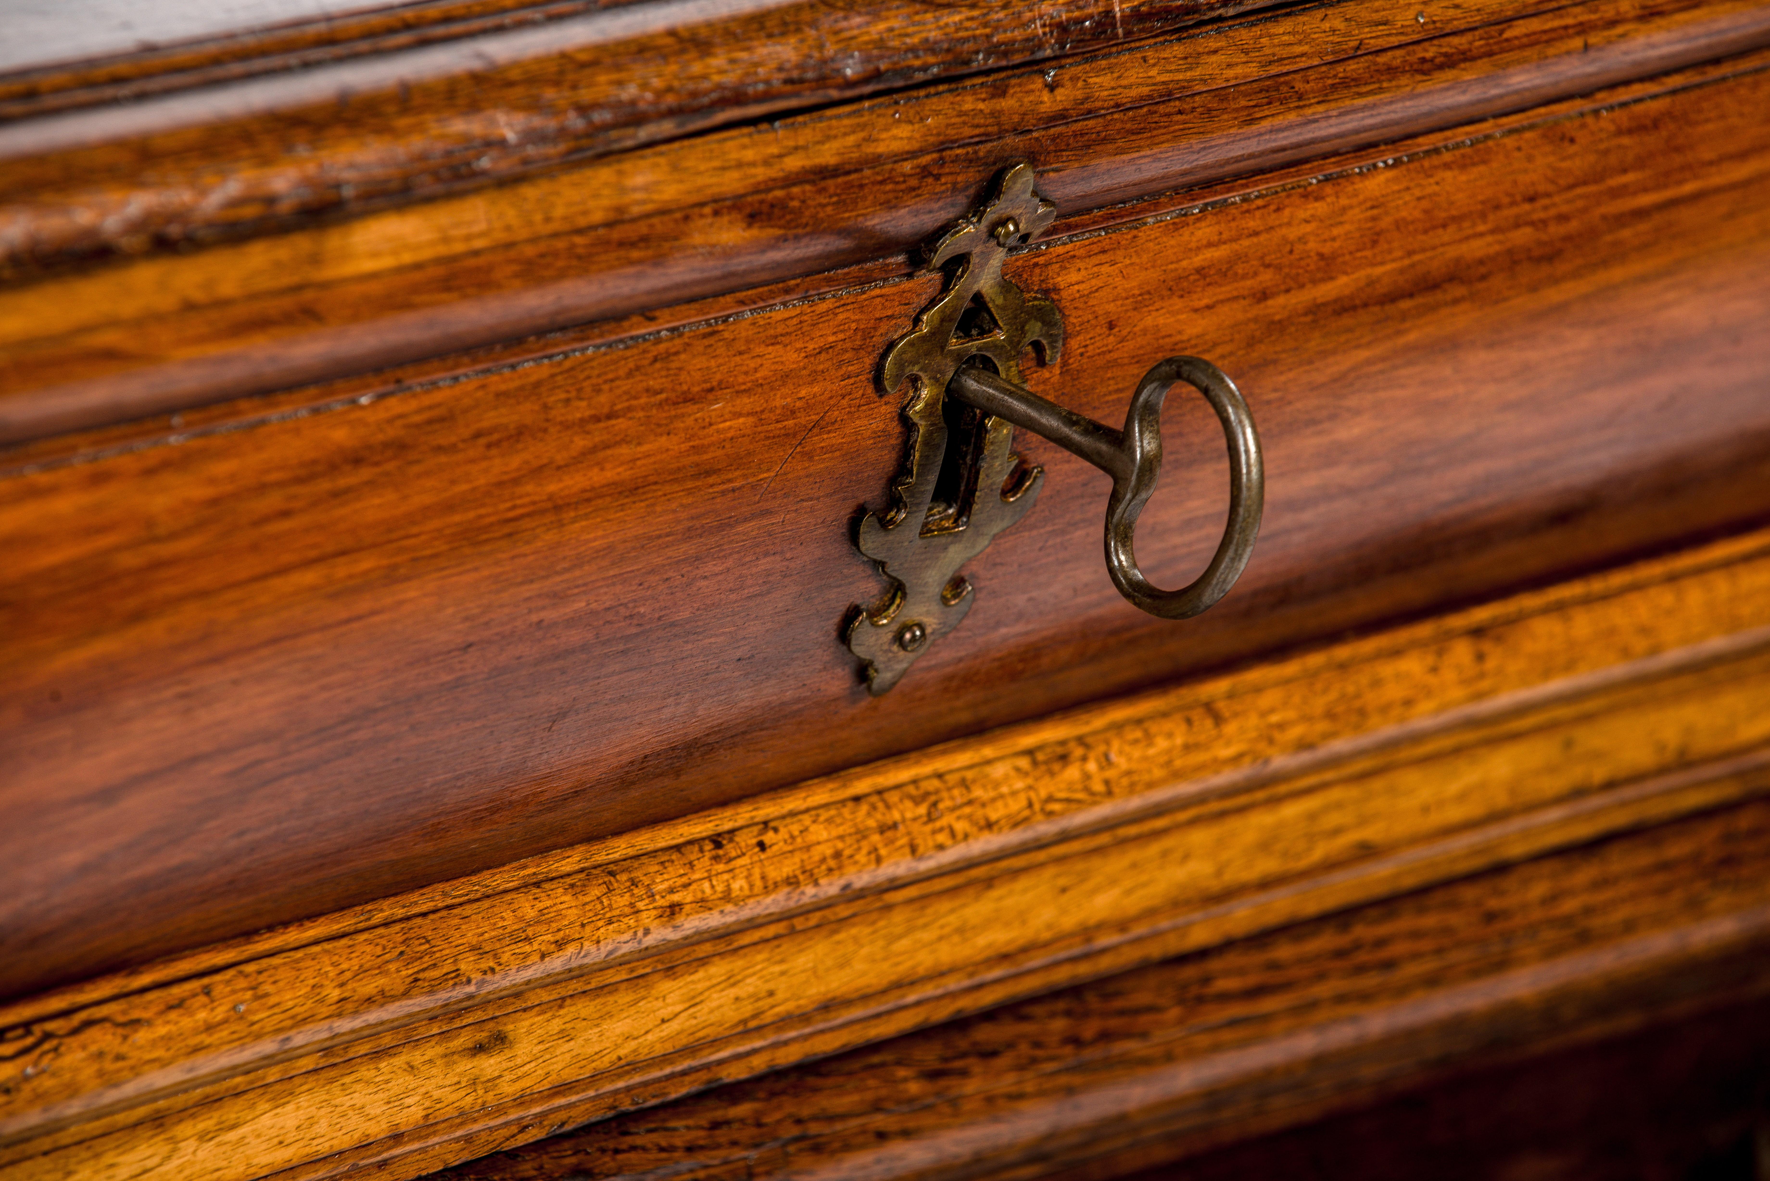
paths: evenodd
<path fill-rule="evenodd" d="M 1158 363 L 1131 398 L 1124 430 L 1025 390 L 1020 361 L 1035 351 L 1057 358 L 1064 322 L 1057 305 L 1002 278 L 1009 246 L 1044 232 L 1057 209 L 1034 191 L 1030 165 L 1014 165 L 989 200 L 954 225 L 929 253 L 927 269 L 945 269 L 940 296 L 897 338 L 880 365 L 880 386 L 910 386 L 910 459 L 892 482 L 892 508 L 867 513 L 857 547 L 890 579 L 885 598 L 855 609 L 848 646 L 866 662 L 874 696 L 887 692 L 929 645 L 972 609 L 959 567 L 997 533 L 1020 521 L 1039 494 L 1041 467 L 1020 467 L 1012 427 L 1025 427 L 1103 469 L 1113 480 L 1106 505 L 1106 568 L 1140 609 L 1184 620 L 1211 607 L 1241 577 L 1260 529 L 1264 469 L 1260 441 L 1241 391 L 1198 358 Z M 1136 567 L 1136 517 L 1161 469 L 1161 405 L 1184 381 L 1216 409 L 1228 439 L 1228 528 L 1205 572 L 1165 591 Z"/>

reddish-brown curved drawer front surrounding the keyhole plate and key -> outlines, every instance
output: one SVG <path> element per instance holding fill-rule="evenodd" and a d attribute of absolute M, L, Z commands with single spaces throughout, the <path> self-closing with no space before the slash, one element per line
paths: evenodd
<path fill-rule="evenodd" d="M 1034 388 L 1110 420 L 1150 358 L 1241 382 L 1260 549 L 1147 621 L 1103 478 L 1027 441 L 1039 510 L 880 701 L 846 522 L 901 455 L 871 372 L 929 280 L 14 467 L 0 986 L 1763 519 L 1770 74 L 1720 71 L 1011 260 L 1069 322 Z M 1205 414 L 1170 414 L 1158 581 L 1216 540 Z"/>

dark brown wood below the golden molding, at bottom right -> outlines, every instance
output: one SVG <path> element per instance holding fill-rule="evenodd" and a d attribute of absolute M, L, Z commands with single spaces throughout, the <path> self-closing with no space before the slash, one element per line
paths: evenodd
<path fill-rule="evenodd" d="M 1651 1172 L 1648 1153 L 1605 1162 L 1582 1139 L 1593 1124 L 1623 1144 L 1658 1139 L 1653 1163 L 1687 1167 L 1749 1140 L 1752 1115 L 1770 1115 L 1770 1091 L 1751 1089 L 1770 1085 L 1765 1002 L 1621 1046 L 1566 1046 L 1770 992 L 1765 864 L 1770 807 L 1710 813 L 620 1115 L 434 1181 L 1113 1177 L 1150 1162 L 1166 1163 L 1138 1181 L 1687 1176 Z M 1271 1135 L 1524 1055 L 1549 1062 L 1290 1144 Z M 1434 1098 L 1441 1119 L 1427 1121 Z M 1581 1108 L 1584 1121 L 1545 1119 Z M 1728 1139 L 1703 1144 L 1697 1130 L 1717 1124 Z M 1232 1140 L 1246 1144 L 1198 1158 Z"/>

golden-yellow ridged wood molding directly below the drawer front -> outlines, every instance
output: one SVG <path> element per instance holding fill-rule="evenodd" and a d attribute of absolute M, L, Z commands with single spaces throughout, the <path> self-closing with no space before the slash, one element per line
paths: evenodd
<path fill-rule="evenodd" d="M 414 1176 L 1759 799 L 1766 692 L 1759 533 L 1007 728 L 16 1002 L 0 1176 Z"/>

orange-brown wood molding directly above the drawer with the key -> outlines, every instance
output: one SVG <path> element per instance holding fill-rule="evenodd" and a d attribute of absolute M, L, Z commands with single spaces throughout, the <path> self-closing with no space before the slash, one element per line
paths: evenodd
<path fill-rule="evenodd" d="M 876 260 L 901 274 L 906 251 L 1016 158 L 1044 174 L 1066 212 L 1057 232 L 1076 232 L 1101 221 L 1090 211 L 1770 42 L 1770 12 L 1749 0 L 1607 0 L 1522 14 L 1501 0 L 1460 0 L 1425 25 L 1420 14 L 1411 4 L 1345 0 L 1243 18 L 1127 51 L 779 119 L 765 131 L 625 151 L 448 200 L 319 225 L 308 218 L 289 234 L 35 282 L 19 273 L 0 292 L 11 390 L 0 398 L 0 441 Z M 237 168 L 205 166 L 246 184 Z M 12 172 L 23 186 L 9 223 L 19 250 L 55 239 L 51 221 L 147 248 L 152 234 L 131 220 L 200 191 L 168 182 L 161 202 L 145 175 L 135 177 L 115 197 L 127 216 L 112 216 L 58 205 L 48 177 L 27 182 L 28 168 Z M 322 188 L 301 182 L 303 193 Z"/>

